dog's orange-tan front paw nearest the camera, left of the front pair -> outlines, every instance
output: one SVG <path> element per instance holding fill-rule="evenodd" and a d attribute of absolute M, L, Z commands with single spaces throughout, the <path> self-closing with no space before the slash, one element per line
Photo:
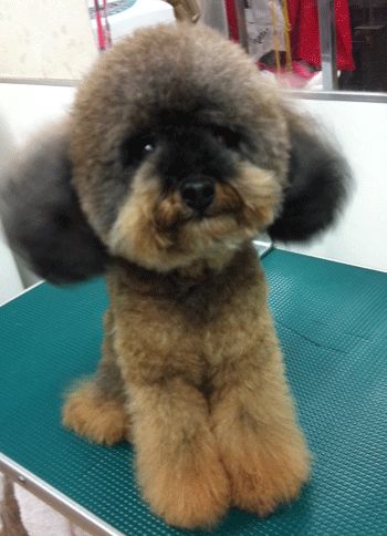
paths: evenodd
<path fill-rule="evenodd" d="M 160 466 L 146 482 L 143 492 L 155 514 L 168 525 L 180 528 L 211 528 L 230 504 L 230 482 L 219 460 L 192 456 L 189 463 Z M 144 475 L 143 475 L 144 476 Z"/>

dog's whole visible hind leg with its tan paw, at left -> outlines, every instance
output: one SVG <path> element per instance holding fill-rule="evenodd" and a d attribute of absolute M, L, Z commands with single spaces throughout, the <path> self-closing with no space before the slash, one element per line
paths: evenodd
<path fill-rule="evenodd" d="M 129 435 L 126 395 L 113 349 L 113 316 L 105 316 L 103 359 L 94 378 L 69 392 L 62 412 L 64 426 L 95 443 L 112 445 Z"/>

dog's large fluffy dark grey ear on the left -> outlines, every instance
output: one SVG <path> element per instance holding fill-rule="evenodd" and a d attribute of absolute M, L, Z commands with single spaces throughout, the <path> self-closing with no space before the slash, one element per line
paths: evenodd
<path fill-rule="evenodd" d="M 13 158 L 0 183 L 0 215 L 11 248 L 52 282 L 98 275 L 107 260 L 71 174 L 70 136 L 61 125 L 41 133 L 32 151 Z"/>

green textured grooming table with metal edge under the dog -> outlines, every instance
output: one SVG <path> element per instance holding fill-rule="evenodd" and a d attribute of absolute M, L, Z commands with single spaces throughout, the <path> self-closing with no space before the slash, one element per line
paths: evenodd
<path fill-rule="evenodd" d="M 233 509 L 212 533 L 170 528 L 139 496 L 129 445 L 61 427 L 63 391 L 100 359 L 103 280 L 0 308 L 0 470 L 95 535 L 387 535 L 387 274 L 281 250 L 263 265 L 314 454 L 299 502 L 265 520 Z"/>

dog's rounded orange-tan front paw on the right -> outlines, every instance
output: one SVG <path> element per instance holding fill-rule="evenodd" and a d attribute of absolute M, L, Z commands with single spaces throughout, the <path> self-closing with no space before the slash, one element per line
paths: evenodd
<path fill-rule="evenodd" d="M 265 517 L 299 497 L 310 475 L 310 454 L 303 444 L 247 451 L 226 461 L 234 506 Z"/>

